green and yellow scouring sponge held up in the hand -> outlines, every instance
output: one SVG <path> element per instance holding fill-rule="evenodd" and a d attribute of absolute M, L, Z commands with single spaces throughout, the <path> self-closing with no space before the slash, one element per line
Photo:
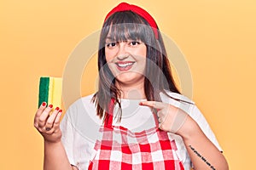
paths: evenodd
<path fill-rule="evenodd" d="M 62 78 L 40 77 L 38 107 L 46 102 L 54 107 L 61 107 Z"/>

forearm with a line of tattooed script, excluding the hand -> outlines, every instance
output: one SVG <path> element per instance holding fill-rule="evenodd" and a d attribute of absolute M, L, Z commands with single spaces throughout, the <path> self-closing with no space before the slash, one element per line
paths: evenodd
<path fill-rule="evenodd" d="M 183 136 L 194 169 L 229 169 L 224 155 L 195 124 L 192 133 Z"/>

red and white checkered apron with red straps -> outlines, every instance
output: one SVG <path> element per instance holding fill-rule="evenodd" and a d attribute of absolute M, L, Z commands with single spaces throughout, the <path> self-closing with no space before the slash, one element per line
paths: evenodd
<path fill-rule="evenodd" d="M 165 131 L 153 127 L 133 133 L 125 127 L 112 125 L 113 105 L 110 105 L 109 113 L 106 114 L 107 118 L 100 128 L 102 140 L 96 140 L 89 170 L 184 169 L 177 157 L 175 141 Z M 158 125 L 155 114 L 154 121 Z"/>

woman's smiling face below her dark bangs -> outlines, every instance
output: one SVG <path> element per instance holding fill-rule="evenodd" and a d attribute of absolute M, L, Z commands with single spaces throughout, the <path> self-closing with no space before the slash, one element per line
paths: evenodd
<path fill-rule="evenodd" d="M 105 55 L 117 82 L 128 85 L 144 81 L 147 47 L 143 42 L 129 39 L 117 42 L 108 37 Z"/>

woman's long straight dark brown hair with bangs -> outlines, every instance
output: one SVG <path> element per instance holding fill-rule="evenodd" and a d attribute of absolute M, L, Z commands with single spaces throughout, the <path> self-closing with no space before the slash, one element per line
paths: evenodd
<path fill-rule="evenodd" d="M 104 112 L 108 111 L 111 99 L 119 105 L 118 121 L 121 120 L 122 114 L 119 101 L 121 93 L 115 86 L 116 80 L 108 68 L 105 57 L 107 37 L 112 37 L 115 41 L 140 40 L 146 44 L 144 93 L 148 100 L 161 101 L 160 92 L 166 94 L 166 90 L 180 94 L 172 77 L 163 39 L 159 29 L 157 31 L 158 39 L 155 38 L 154 31 L 148 22 L 132 11 L 116 12 L 104 22 L 98 51 L 99 86 L 92 99 L 96 105 L 97 116 L 106 118 L 107 114 Z"/>

